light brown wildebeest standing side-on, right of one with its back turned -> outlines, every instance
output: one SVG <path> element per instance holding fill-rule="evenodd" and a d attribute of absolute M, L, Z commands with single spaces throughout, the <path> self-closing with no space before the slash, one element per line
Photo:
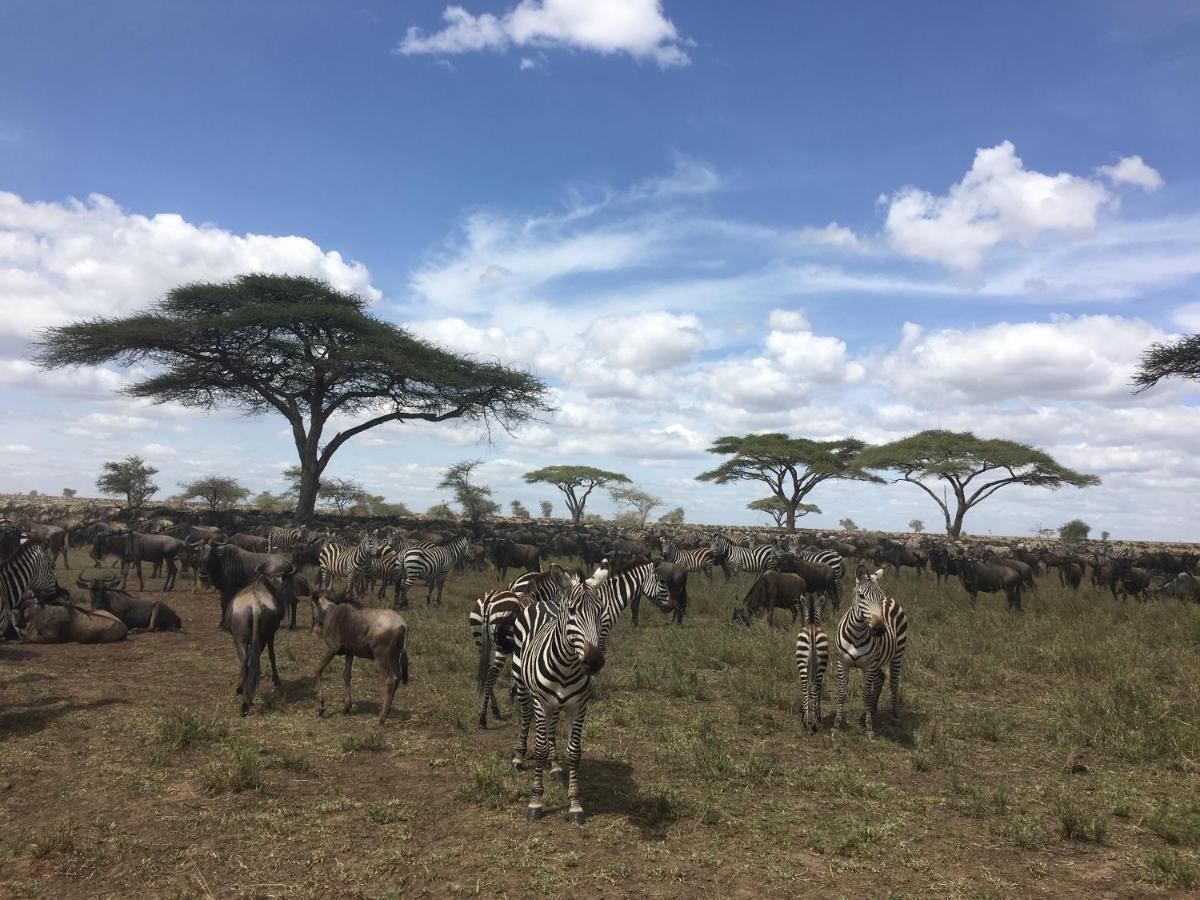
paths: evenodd
<path fill-rule="evenodd" d="M 344 592 L 340 595 L 318 590 L 311 599 L 312 630 L 325 642 L 325 655 L 317 666 L 317 715 L 325 714 L 322 673 L 334 656 L 346 656 L 346 707 L 349 713 L 350 670 L 354 658 L 373 659 L 383 673 L 384 698 L 379 724 L 386 721 L 396 688 L 408 684 L 408 626 L 392 610 L 365 608 Z"/>

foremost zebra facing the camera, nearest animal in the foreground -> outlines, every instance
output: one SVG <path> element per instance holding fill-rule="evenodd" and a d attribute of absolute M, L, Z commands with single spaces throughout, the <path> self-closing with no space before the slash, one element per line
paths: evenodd
<path fill-rule="evenodd" d="M 604 668 L 601 629 L 606 617 L 599 592 L 580 586 L 563 598 L 557 611 L 529 635 L 521 661 L 521 683 L 538 727 L 534 744 L 533 791 L 526 815 L 530 822 L 542 818 L 545 788 L 542 774 L 556 758 L 554 733 L 558 719 L 569 720 L 566 740 L 568 820 L 583 824 L 587 816 L 580 804 L 580 757 L 583 752 L 583 722 L 596 673 Z M 526 708 L 521 710 L 522 730 Z M 556 758 L 557 764 L 557 758 Z M 551 770 L 554 774 L 554 769 Z"/>

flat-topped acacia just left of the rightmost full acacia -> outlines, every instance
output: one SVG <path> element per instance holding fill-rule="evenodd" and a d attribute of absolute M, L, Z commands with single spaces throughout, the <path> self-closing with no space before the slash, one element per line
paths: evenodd
<path fill-rule="evenodd" d="M 761 481 L 785 510 L 780 520 L 787 530 L 796 530 L 796 518 L 804 498 L 832 478 L 878 481 L 858 466 L 866 444 L 854 438 L 809 440 L 787 434 L 745 434 L 718 438 L 708 452 L 731 456 L 712 472 L 696 475 L 697 481 L 727 485 L 733 481 Z M 804 515 L 803 512 L 800 515 Z"/>

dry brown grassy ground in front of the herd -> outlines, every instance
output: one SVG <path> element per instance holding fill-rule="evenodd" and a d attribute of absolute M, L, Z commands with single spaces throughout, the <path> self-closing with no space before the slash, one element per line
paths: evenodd
<path fill-rule="evenodd" d="M 504 700 L 475 725 L 466 616 L 493 572 L 452 575 L 440 607 L 414 593 L 412 683 L 382 728 L 367 661 L 354 710 L 335 661 L 316 715 L 304 607 L 277 642 L 282 689 L 264 678 L 246 719 L 211 593 L 163 595 L 182 634 L 0 644 L 0 895 L 1195 895 L 1200 610 L 1045 577 L 1014 616 L 889 575 L 904 706 L 868 742 L 857 677 L 848 730 L 802 730 L 794 630 L 728 623 L 746 583 L 692 576 L 683 628 L 623 617 L 582 828 L 553 782 L 526 823 Z"/>

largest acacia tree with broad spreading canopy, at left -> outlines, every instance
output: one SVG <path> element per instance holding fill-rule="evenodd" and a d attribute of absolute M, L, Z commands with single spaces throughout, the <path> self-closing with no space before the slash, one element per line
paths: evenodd
<path fill-rule="evenodd" d="M 48 329 L 37 362 L 145 362 L 152 373 L 126 394 L 278 413 L 300 461 L 301 520 L 312 516 L 334 454 L 370 428 L 466 419 L 512 430 L 550 408 L 546 385 L 528 372 L 444 350 L 371 316 L 360 296 L 286 275 L 182 284 L 146 312 Z M 335 415 L 349 421 L 326 436 Z"/>

